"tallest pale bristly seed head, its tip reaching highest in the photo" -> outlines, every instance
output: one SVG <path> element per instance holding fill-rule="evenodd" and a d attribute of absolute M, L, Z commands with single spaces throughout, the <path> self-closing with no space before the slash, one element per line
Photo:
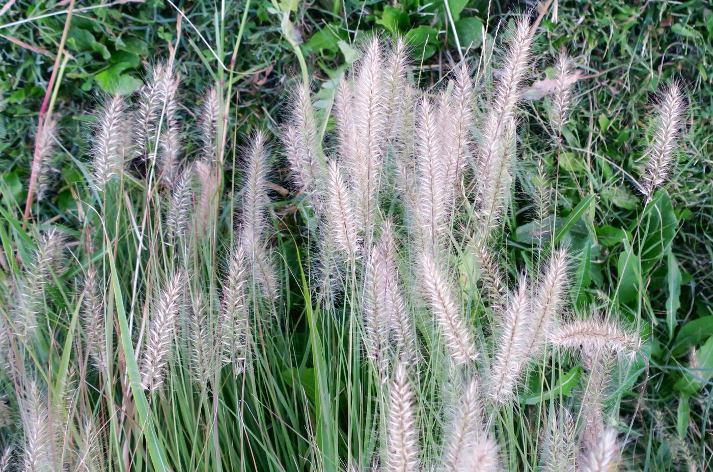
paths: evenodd
<path fill-rule="evenodd" d="M 515 110 L 530 64 L 531 31 L 527 19 L 518 21 L 515 26 L 513 37 L 508 41 L 503 73 L 496 83 L 491 109 L 480 132 L 476 194 L 486 232 L 498 224 L 503 198 L 509 188 L 508 160 L 514 147 Z"/>

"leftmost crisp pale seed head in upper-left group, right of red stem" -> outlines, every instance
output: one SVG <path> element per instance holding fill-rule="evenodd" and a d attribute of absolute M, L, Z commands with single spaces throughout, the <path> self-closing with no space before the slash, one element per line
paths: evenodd
<path fill-rule="evenodd" d="M 124 169 L 127 149 L 124 110 L 123 98 L 116 95 L 99 112 L 91 154 L 94 185 L 100 191 Z"/>

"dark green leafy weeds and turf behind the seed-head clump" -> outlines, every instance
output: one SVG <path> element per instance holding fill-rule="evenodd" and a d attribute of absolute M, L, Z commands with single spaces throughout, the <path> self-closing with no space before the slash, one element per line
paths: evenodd
<path fill-rule="evenodd" d="M 330 96 L 332 79 L 356 58 L 353 46 L 360 35 L 405 35 L 418 51 L 419 80 L 427 86 L 458 63 L 456 43 L 469 45 L 477 56 L 483 28 L 492 38 L 512 12 L 534 8 L 543 15 L 537 45 L 543 61 L 567 46 L 583 74 L 570 126 L 577 132 L 567 136 L 570 148 L 583 152 L 565 154 L 567 173 L 560 176 L 560 185 L 573 195 L 595 194 L 593 216 L 583 230 L 593 238 L 587 274 L 593 296 L 610 293 L 615 284 L 628 286 L 622 279 L 630 274 L 617 268 L 642 199 L 620 169 L 635 174 L 652 96 L 660 85 L 679 79 L 691 98 L 687 159 L 668 189 L 671 205 L 662 216 L 674 223 L 660 228 L 661 241 L 649 254 L 656 262 L 645 275 L 648 290 L 642 304 L 653 329 L 649 386 L 637 421 L 649 425 L 655 437 L 649 443 L 655 447 L 645 450 L 646 468 L 673 467 L 681 438 L 707 465 L 713 456 L 713 6 L 702 0 L 448 0 L 448 6 L 452 25 L 442 0 L 6 0 L 0 6 L 4 234 L 11 225 L 9 214 L 22 218 L 36 125 L 46 99 L 61 117 L 62 148 L 56 193 L 34 218 L 77 229 L 76 197 L 83 185 L 78 162 L 86 159 L 91 110 L 104 95 L 137 90 L 147 66 L 175 54 L 189 104 L 198 103 L 216 80 L 231 83 L 232 149 L 244 145 L 255 127 L 277 128 L 295 78 L 308 76 L 318 96 Z M 537 107 L 537 100 L 525 105 L 530 119 L 523 126 L 538 127 L 532 118 Z M 185 111 L 190 114 L 191 108 Z M 590 178 L 602 172 L 603 179 Z M 583 191 L 582 183 L 590 189 Z M 568 204 L 578 202 L 573 198 Z M 287 200 L 275 203 L 286 228 L 294 225 L 290 205 Z M 606 214 L 607 221 L 596 214 Z M 528 228 L 518 229 L 513 246 L 527 234 Z M 2 264 L 6 271 L 7 261 Z M 625 295 L 621 298 L 627 303 Z M 697 349 L 699 369 L 687 372 L 692 349 Z M 686 376 L 697 382 L 682 382 Z"/>

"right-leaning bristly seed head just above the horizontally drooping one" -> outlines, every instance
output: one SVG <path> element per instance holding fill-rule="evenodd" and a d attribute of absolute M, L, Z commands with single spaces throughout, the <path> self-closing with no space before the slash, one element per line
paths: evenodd
<path fill-rule="evenodd" d="M 532 341 L 527 347 L 528 356 L 535 356 L 543 347 L 547 333 L 551 332 L 555 320 L 565 302 L 565 290 L 568 283 L 569 258 L 567 248 L 550 256 L 547 268 L 538 283 L 537 293 L 533 298 Z"/>

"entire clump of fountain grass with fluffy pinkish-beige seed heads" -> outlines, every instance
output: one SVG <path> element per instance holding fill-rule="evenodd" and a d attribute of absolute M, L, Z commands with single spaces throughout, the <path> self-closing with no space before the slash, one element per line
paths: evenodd
<path fill-rule="evenodd" d="M 577 151 L 587 79 L 563 51 L 538 73 L 539 21 L 503 24 L 435 86 L 409 41 L 364 38 L 326 100 L 297 84 L 277 139 L 254 130 L 240 149 L 224 84 L 182 105 L 173 60 L 107 98 L 78 224 L 4 211 L 0 375 L 18 426 L 0 467 L 647 468 L 647 290 L 675 262 L 667 189 L 690 103 L 662 88 L 639 174 Z M 612 172 L 640 204 L 604 231 Z M 620 256 L 602 290 L 607 238 Z M 672 390 L 688 402 L 707 379 Z M 702 463 L 683 421 L 661 444 Z"/>

